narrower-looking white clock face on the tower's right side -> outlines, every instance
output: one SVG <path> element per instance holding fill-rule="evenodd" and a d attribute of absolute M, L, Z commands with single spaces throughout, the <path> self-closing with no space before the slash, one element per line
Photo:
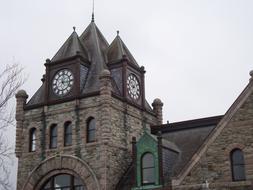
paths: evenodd
<path fill-rule="evenodd" d="M 134 100 L 140 97 L 140 84 L 137 77 L 133 74 L 129 74 L 127 77 L 127 92 Z"/>

